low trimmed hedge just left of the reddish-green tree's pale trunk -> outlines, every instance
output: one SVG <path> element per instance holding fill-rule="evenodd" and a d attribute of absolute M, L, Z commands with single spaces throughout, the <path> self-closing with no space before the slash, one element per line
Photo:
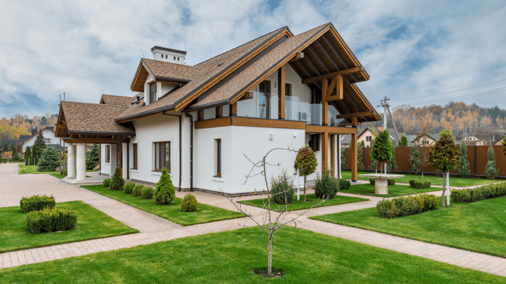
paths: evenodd
<path fill-rule="evenodd" d="M 382 218 L 394 218 L 415 215 L 434 210 L 438 205 L 435 195 L 422 194 L 417 196 L 383 199 L 376 204 L 376 212 Z"/>

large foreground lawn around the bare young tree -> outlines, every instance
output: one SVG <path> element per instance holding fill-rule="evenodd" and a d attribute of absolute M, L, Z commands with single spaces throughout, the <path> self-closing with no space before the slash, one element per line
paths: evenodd
<path fill-rule="evenodd" d="M 210 233 L 129 249 L 6 268 L 2 283 L 504 283 L 504 277 L 375 248 L 308 230 L 283 230 L 273 244 L 258 228 Z"/>

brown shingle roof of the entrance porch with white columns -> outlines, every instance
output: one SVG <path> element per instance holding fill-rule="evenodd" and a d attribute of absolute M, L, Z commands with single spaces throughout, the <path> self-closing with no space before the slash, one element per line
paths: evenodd
<path fill-rule="evenodd" d="M 68 101 L 62 101 L 61 106 L 69 133 L 135 135 L 132 126 L 114 120 L 128 107 Z"/>

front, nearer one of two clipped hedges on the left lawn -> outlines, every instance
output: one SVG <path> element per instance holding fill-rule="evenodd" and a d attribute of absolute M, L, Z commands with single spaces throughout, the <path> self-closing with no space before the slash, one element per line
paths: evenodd
<path fill-rule="evenodd" d="M 77 224 L 74 210 L 61 208 L 33 211 L 26 216 L 26 229 L 30 233 L 71 230 Z"/>

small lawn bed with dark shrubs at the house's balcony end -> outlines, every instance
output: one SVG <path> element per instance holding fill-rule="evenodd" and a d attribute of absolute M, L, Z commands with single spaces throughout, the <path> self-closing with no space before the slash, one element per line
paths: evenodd
<path fill-rule="evenodd" d="M 264 199 L 243 200 L 243 201 L 238 201 L 238 203 L 263 208 L 264 202 L 262 200 L 267 202 L 267 198 L 264 198 Z M 306 195 L 306 200 L 307 200 L 307 202 L 304 202 L 304 195 L 302 195 L 302 194 L 301 194 L 301 198 L 299 201 L 297 201 L 297 196 L 294 197 L 293 202 L 291 203 L 288 210 L 308 209 L 308 208 L 311 208 L 311 206 L 313 206 L 316 203 L 321 201 L 321 199 L 316 198 L 316 196 L 314 194 Z M 324 207 L 324 206 L 332 206 L 332 205 L 340 205 L 340 204 L 346 204 L 346 203 L 353 203 L 353 202 L 360 202 L 360 201 L 367 201 L 367 200 L 368 199 L 365 199 L 365 198 L 336 195 L 333 199 L 329 199 L 329 200 L 323 202 L 322 204 L 315 206 L 315 208 L 316 207 Z M 275 203 L 271 202 L 271 210 L 280 212 L 280 211 L 284 210 L 285 208 L 286 208 L 286 205 L 284 205 L 284 204 L 278 206 Z"/>

